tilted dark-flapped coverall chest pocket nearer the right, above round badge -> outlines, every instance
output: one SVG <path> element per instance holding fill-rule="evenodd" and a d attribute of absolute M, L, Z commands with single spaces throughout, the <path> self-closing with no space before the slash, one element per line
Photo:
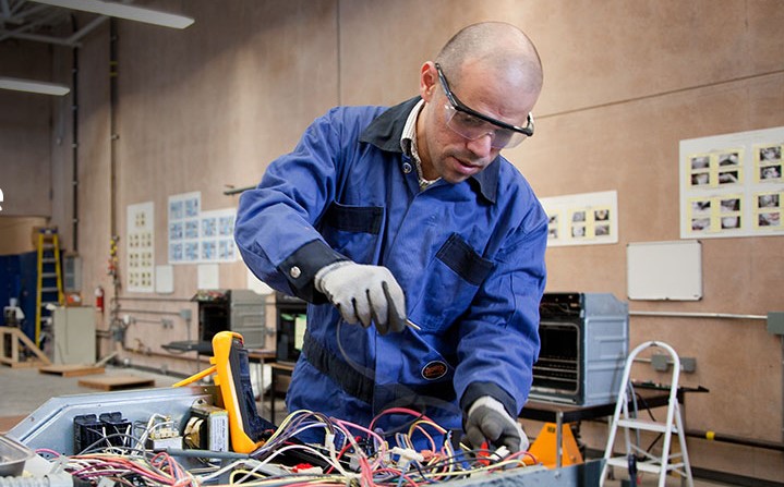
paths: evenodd
<path fill-rule="evenodd" d="M 493 267 L 491 260 L 483 258 L 460 235 L 453 233 L 438 249 L 425 273 L 427 285 L 412 316 L 422 316 L 419 325 L 430 331 L 448 328 L 468 309 Z"/>

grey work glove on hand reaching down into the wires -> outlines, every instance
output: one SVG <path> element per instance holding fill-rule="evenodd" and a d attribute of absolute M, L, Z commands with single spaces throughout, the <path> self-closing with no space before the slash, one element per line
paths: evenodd
<path fill-rule="evenodd" d="M 490 446 L 509 449 L 509 452 L 528 451 L 528 437 L 520 423 L 504 409 L 504 404 L 482 395 L 468 410 L 466 436 L 472 448 L 480 448 L 486 440 Z"/>

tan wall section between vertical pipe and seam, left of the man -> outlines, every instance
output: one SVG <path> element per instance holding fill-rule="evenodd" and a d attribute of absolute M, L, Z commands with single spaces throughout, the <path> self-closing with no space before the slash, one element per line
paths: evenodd
<path fill-rule="evenodd" d="M 197 191 L 202 210 L 236 207 L 238 197 L 224 191 L 257 184 L 269 161 L 292 149 L 304 127 L 337 104 L 336 2 L 226 9 L 201 1 L 188 9 L 210 22 L 183 32 L 118 25 L 118 229 L 124 234 L 128 205 L 154 202 L 159 265 L 168 263 L 169 196 Z M 244 288 L 245 272 L 241 261 L 221 265 L 220 285 Z M 173 297 L 190 299 L 196 266 L 176 265 L 173 275 Z M 194 311 L 195 337 L 195 307 L 180 307 Z M 182 326 L 156 330 L 155 342 L 147 331 L 129 329 L 126 343 L 160 351 L 160 344 L 185 338 Z"/>

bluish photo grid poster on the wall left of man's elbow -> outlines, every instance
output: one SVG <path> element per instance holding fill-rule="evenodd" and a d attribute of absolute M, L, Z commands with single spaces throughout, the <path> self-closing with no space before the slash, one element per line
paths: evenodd
<path fill-rule="evenodd" d="M 234 208 L 202 210 L 201 192 L 169 196 L 169 264 L 237 260 Z"/>

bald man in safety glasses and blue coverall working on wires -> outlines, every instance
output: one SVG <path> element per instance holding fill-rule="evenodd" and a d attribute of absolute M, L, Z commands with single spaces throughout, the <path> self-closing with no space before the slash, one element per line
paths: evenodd
<path fill-rule="evenodd" d="M 242 195 L 245 263 L 311 303 L 289 411 L 367 425 L 408 406 L 527 449 L 547 218 L 499 153 L 533 135 L 541 86 L 522 32 L 471 25 L 422 65 L 420 97 L 333 109 Z"/>

